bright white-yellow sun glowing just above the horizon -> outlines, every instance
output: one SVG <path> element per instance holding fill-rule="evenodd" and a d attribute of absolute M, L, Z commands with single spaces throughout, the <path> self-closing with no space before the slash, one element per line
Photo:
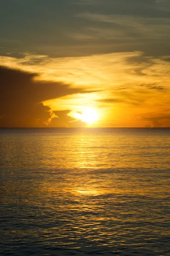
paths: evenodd
<path fill-rule="evenodd" d="M 94 123 L 98 119 L 97 112 L 93 108 L 85 108 L 82 113 L 75 113 L 77 119 L 88 123 L 89 125 Z"/>

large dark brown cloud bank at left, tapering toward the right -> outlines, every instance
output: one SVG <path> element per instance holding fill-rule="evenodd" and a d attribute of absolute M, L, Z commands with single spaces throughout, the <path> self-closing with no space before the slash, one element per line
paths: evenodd
<path fill-rule="evenodd" d="M 43 101 L 88 92 L 62 82 L 34 81 L 36 76 L 0 67 L 0 127 L 43 127 L 51 118 Z"/>

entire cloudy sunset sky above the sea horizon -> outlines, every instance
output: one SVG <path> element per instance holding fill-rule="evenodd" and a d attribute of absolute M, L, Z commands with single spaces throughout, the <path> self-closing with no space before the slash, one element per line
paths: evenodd
<path fill-rule="evenodd" d="M 169 42 L 170 0 L 0 0 L 0 127 L 170 127 Z"/>

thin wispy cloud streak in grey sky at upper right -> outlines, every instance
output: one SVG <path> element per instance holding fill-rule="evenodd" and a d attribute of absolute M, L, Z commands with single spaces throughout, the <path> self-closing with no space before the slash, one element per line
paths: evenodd
<path fill-rule="evenodd" d="M 164 38 L 170 37 L 170 18 L 146 18 L 134 17 L 130 15 L 103 15 L 97 13 L 79 13 L 76 17 L 92 20 L 94 22 L 109 23 L 112 25 L 110 31 L 112 35 L 124 34 L 124 38 Z M 95 32 L 94 27 L 92 29 Z M 106 33 L 108 28 L 106 29 Z M 99 28 L 96 29 L 96 34 Z M 104 32 L 104 29 L 103 29 Z M 105 33 L 105 32 L 104 32 Z"/>

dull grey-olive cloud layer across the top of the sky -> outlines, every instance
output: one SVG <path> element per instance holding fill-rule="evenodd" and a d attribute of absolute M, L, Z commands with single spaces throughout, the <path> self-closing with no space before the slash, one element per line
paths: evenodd
<path fill-rule="evenodd" d="M 37 0 L 34 11 L 33 2 L 2 4 L 3 55 L 20 51 L 53 57 L 133 50 L 153 55 L 170 52 L 169 0 Z"/>

